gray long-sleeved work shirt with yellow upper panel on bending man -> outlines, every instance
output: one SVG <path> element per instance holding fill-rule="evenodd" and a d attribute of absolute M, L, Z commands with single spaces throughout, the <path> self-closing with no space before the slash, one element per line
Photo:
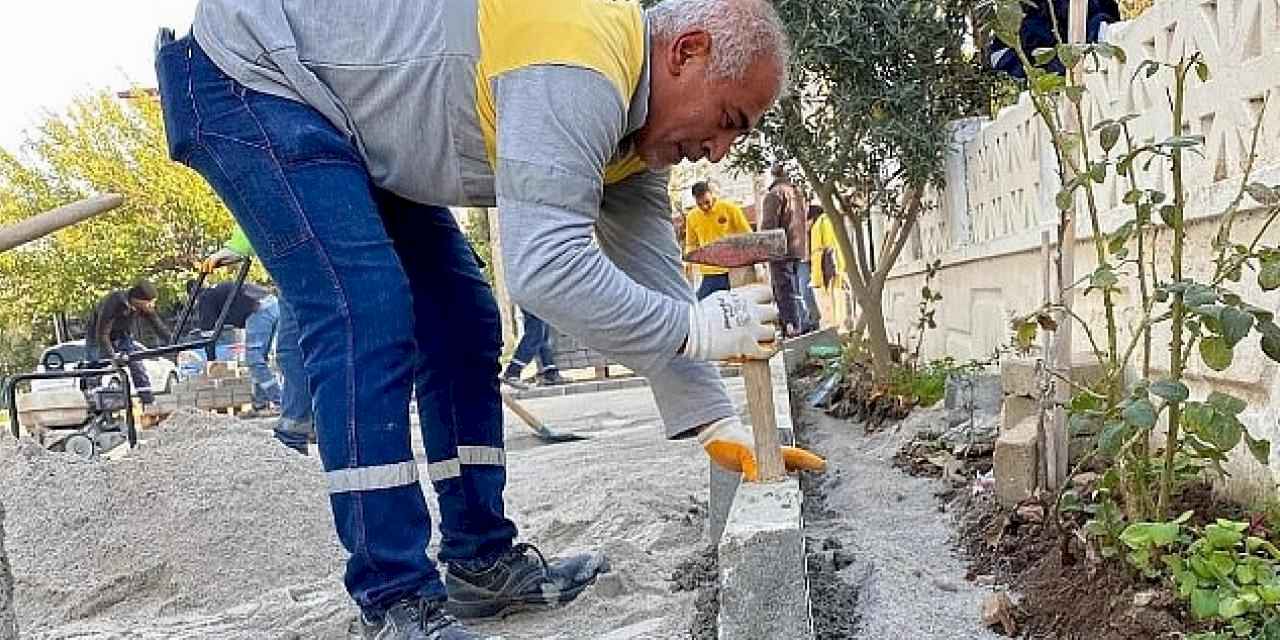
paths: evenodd
<path fill-rule="evenodd" d="M 410 200 L 499 211 L 512 298 L 650 379 L 667 434 L 733 413 L 677 356 L 692 293 L 648 115 L 631 3 L 202 0 L 196 40 L 242 84 L 306 102 Z"/>

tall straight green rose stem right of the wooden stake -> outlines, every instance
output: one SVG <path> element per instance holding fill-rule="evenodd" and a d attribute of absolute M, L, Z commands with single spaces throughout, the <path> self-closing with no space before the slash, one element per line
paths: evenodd
<path fill-rule="evenodd" d="M 1194 64 L 1197 58 L 1198 54 L 1192 56 L 1190 63 Z M 1187 70 L 1189 68 L 1190 65 L 1185 59 L 1174 67 L 1174 136 L 1183 134 L 1183 101 L 1187 95 Z M 1187 207 L 1187 186 L 1183 183 L 1183 150 L 1174 147 L 1171 155 L 1174 173 L 1174 247 L 1170 256 L 1170 269 L 1174 283 L 1180 283 L 1183 282 L 1183 243 L 1187 239 L 1185 216 L 1183 215 Z M 1172 294 L 1172 311 L 1169 370 L 1172 380 L 1181 381 L 1183 370 L 1185 369 L 1185 360 L 1183 357 L 1183 321 L 1187 316 L 1187 305 L 1180 289 Z M 1174 488 L 1174 456 L 1178 453 L 1178 430 L 1181 425 L 1181 402 L 1170 402 L 1169 430 L 1165 435 L 1165 467 L 1161 470 L 1160 477 L 1160 502 L 1156 503 L 1157 517 L 1164 517 L 1169 511 L 1169 497 Z"/>

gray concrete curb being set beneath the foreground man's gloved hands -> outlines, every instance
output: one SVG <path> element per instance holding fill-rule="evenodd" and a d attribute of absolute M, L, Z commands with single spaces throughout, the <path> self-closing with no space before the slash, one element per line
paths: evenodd
<path fill-rule="evenodd" d="M 778 436 L 783 444 L 792 444 L 787 364 L 785 352 L 778 353 L 769 360 L 769 372 Z M 708 511 L 719 562 L 719 637 L 812 639 L 799 477 L 740 484 L 737 474 L 714 463 L 710 467 Z"/>

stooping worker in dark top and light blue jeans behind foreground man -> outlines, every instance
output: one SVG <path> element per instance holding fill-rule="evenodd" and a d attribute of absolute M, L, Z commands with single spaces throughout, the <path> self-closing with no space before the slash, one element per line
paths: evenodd
<path fill-rule="evenodd" d="M 195 285 L 195 282 L 187 283 L 188 293 Z M 244 329 L 244 360 L 253 376 L 253 412 L 275 413 L 280 404 L 280 383 L 266 358 L 280 323 L 279 301 L 270 291 L 253 283 L 244 283 L 238 292 L 233 282 L 215 284 L 196 298 L 196 325 L 206 332 L 216 329 L 218 316 L 228 298 L 232 303 L 223 326 Z"/>

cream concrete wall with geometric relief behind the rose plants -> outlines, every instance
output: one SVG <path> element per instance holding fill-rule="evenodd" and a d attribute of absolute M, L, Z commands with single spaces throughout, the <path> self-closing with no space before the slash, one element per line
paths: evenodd
<path fill-rule="evenodd" d="M 1140 18 L 1116 26 L 1107 40 L 1126 51 L 1128 63 L 1111 60 L 1101 73 L 1088 76 L 1088 120 L 1140 114 L 1130 123 L 1139 140 L 1167 137 L 1170 114 L 1165 97 L 1167 74 L 1139 77 L 1130 84 L 1137 65 L 1144 59 L 1176 60 L 1198 50 L 1211 67 L 1211 79 L 1204 84 L 1193 74 L 1185 118 L 1188 133 L 1202 134 L 1207 141 L 1206 157 L 1189 155 L 1185 172 L 1192 186 L 1188 218 L 1194 220 L 1188 265 L 1192 274 L 1203 276 L 1212 269 L 1210 237 L 1217 228 L 1219 214 L 1238 188 L 1261 99 L 1268 91 L 1280 96 L 1275 91 L 1280 84 L 1280 74 L 1275 73 L 1280 68 L 1280 8 L 1270 0 L 1166 0 Z M 936 288 L 945 298 L 937 311 L 938 329 L 925 335 L 924 352 L 929 357 L 982 357 L 1009 342 L 1010 316 L 1033 310 L 1042 301 L 1041 232 L 1052 229 L 1057 219 L 1053 197 L 1059 184 L 1051 148 L 1025 96 L 995 120 L 957 123 L 956 140 L 947 159 L 947 188 L 933 195 L 936 206 L 922 221 L 919 244 L 910 247 L 886 287 L 890 334 L 909 339 L 924 265 L 942 261 Z M 1152 165 L 1143 186 L 1169 189 L 1167 172 L 1157 166 Z M 1266 111 L 1253 179 L 1280 183 L 1277 105 Z M 1126 186 L 1114 177 L 1098 186 L 1106 211 L 1103 227 L 1108 230 L 1132 216 L 1132 210 L 1121 202 L 1125 191 Z M 1096 264 L 1087 215 L 1080 218 L 1078 276 L 1092 271 Z M 1257 211 L 1251 211 L 1236 224 L 1235 237 L 1252 238 L 1258 224 Z M 1266 238 L 1270 243 L 1276 239 L 1280 239 L 1276 230 Z M 1167 237 L 1161 238 L 1158 251 L 1161 256 L 1169 255 Z M 1167 265 L 1167 257 L 1162 264 Z M 1167 266 L 1164 269 L 1167 273 Z M 1236 291 L 1260 306 L 1280 307 L 1280 296 L 1262 294 L 1249 274 Z M 1135 291 L 1123 292 L 1119 306 L 1129 308 L 1135 298 Z M 1105 339 L 1101 298 L 1078 293 L 1075 303 L 1098 332 L 1098 339 Z M 1134 314 L 1121 316 L 1133 319 Z M 1074 338 L 1075 349 L 1088 348 L 1084 332 L 1076 329 Z M 1167 325 L 1156 334 L 1157 344 L 1165 340 Z M 1280 442 L 1280 380 L 1276 366 L 1261 353 L 1256 340 L 1249 338 L 1236 348 L 1235 364 L 1225 374 L 1204 369 L 1197 358 L 1192 370 L 1193 393 L 1222 388 L 1248 398 L 1254 403 L 1243 416 L 1249 430 Z M 1167 357 L 1160 353 L 1156 362 L 1166 366 Z M 1280 452 L 1280 447 L 1274 451 Z M 1272 454 L 1272 476 L 1280 471 L 1277 460 Z M 1235 492 L 1257 493 L 1275 484 L 1256 465 L 1238 460 L 1231 467 Z"/>

